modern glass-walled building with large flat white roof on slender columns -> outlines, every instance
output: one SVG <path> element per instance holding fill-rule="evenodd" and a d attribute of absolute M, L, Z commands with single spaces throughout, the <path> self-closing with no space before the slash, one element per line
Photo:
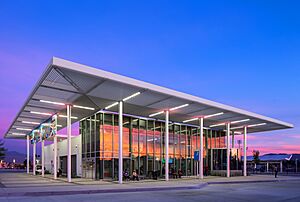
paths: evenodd
<path fill-rule="evenodd" d="M 72 135 L 72 124 L 79 135 Z M 247 175 L 247 134 L 293 125 L 207 99 L 53 58 L 5 138 L 41 144 L 45 169 L 72 177 L 115 180 Z M 66 134 L 60 134 L 66 128 Z M 74 130 L 74 128 L 73 128 Z M 243 135 L 240 151 L 234 137 Z M 51 142 L 45 146 L 45 141 Z"/>

